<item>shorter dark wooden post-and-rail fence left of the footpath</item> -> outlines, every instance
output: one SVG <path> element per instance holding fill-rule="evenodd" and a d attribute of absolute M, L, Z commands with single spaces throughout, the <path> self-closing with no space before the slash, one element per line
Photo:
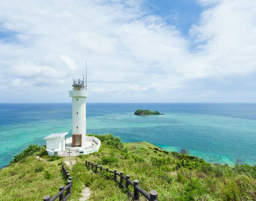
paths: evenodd
<path fill-rule="evenodd" d="M 59 187 L 59 193 L 57 193 L 55 196 L 44 196 L 43 201 L 55 201 L 59 197 L 59 201 L 66 201 L 68 197 L 71 195 L 71 189 L 72 189 L 72 177 L 70 177 L 68 170 L 65 168 L 64 164 L 62 164 L 62 174 L 64 175 L 64 178 L 68 179 L 68 185 L 63 186 L 61 185 Z M 66 195 L 64 192 L 66 192 Z"/>

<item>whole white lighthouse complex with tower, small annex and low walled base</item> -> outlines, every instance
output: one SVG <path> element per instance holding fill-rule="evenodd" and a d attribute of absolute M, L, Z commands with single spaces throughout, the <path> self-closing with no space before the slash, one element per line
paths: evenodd
<path fill-rule="evenodd" d="M 86 136 L 86 89 L 85 80 L 73 80 L 73 90 L 69 91 L 72 97 L 72 137 L 66 138 L 68 132 L 53 133 L 46 140 L 48 154 L 59 156 L 77 156 L 98 151 L 101 141 L 92 136 Z"/>

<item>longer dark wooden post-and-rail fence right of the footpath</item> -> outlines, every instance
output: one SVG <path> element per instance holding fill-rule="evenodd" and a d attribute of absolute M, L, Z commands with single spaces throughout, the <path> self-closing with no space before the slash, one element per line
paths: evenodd
<path fill-rule="evenodd" d="M 98 172 L 98 173 L 101 173 L 102 170 L 105 170 L 106 172 L 110 172 L 114 174 L 114 177 L 113 177 L 114 181 L 116 181 L 121 188 L 126 189 L 128 194 L 132 196 L 135 201 L 139 201 L 139 193 L 141 193 L 141 195 L 143 195 L 148 201 L 158 201 L 158 193 L 156 190 L 150 190 L 148 194 L 145 190 L 139 187 L 139 180 L 134 180 L 134 181 L 130 180 L 130 175 L 124 176 L 123 172 L 118 173 L 116 169 L 114 171 L 111 171 L 108 168 L 104 169 L 102 165 L 98 166 L 98 164 L 93 164 L 87 160 L 85 161 L 85 166 L 91 170 L 94 170 L 94 167 L 95 167 L 95 172 Z M 98 169 L 100 171 L 98 171 Z M 117 180 L 117 175 L 120 177 L 120 180 Z M 123 184 L 123 180 L 126 181 L 125 185 Z M 133 186 L 133 193 L 128 189 L 129 185 Z"/>

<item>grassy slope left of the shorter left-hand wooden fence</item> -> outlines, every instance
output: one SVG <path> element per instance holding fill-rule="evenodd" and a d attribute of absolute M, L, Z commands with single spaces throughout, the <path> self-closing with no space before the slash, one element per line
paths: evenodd
<path fill-rule="evenodd" d="M 36 153 L 0 170 L 0 200 L 35 201 L 64 185 L 60 165 L 35 159 Z"/>

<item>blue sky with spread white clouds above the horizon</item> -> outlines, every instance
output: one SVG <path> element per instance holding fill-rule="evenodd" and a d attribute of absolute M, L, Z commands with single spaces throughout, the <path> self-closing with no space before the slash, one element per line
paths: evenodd
<path fill-rule="evenodd" d="M 0 1 L 0 102 L 256 102 L 255 0 Z"/>

